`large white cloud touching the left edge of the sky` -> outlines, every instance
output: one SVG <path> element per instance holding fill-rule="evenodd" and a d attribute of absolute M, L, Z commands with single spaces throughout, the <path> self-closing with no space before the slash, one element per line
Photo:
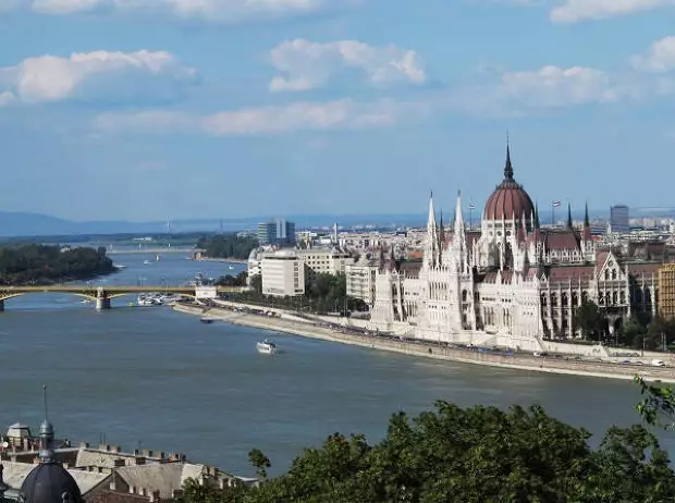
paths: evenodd
<path fill-rule="evenodd" d="M 144 76 L 180 81 L 194 75 L 194 70 L 181 66 L 164 51 L 94 51 L 75 52 L 70 58 L 27 58 L 16 66 L 0 68 L 0 86 L 9 87 L 4 90 L 21 101 L 41 102 L 133 93 L 143 87 Z M 132 84 L 131 90 L 124 79 Z"/>

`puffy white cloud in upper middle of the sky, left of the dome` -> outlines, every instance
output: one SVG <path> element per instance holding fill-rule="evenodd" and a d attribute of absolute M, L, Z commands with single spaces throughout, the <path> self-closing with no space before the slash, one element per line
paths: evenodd
<path fill-rule="evenodd" d="M 326 44 L 289 40 L 272 49 L 270 60 L 285 74 L 270 82 L 272 91 L 312 89 L 349 70 L 365 73 L 368 82 L 379 87 L 427 81 L 424 64 L 415 51 L 395 46 L 373 47 L 356 40 Z"/>

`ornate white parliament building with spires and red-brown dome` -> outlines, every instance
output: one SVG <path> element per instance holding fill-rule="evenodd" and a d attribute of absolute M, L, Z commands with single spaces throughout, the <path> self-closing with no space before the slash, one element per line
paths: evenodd
<path fill-rule="evenodd" d="M 480 228 L 467 229 L 462 198 L 450 229 L 437 223 L 433 198 L 421 267 L 393 255 L 376 274 L 371 328 L 437 342 L 540 351 L 543 339 L 578 334 L 574 312 L 585 299 L 604 310 L 612 332 L 637 311 L 655 314 L 656 271 L 667 253 L 640 257 L 600 249 L 588 208 L 576 229 L 568 207 L 563 229 L 542 229 L 539 212 L 514 177 L 486 203 Z"/>

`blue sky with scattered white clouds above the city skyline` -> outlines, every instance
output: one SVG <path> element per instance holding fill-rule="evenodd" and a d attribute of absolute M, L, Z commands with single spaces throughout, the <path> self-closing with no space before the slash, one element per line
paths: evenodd
<path fill-rule="evenodd" d="M 675 0 L 0 0 L 0 211 L 671 207 Z"/>

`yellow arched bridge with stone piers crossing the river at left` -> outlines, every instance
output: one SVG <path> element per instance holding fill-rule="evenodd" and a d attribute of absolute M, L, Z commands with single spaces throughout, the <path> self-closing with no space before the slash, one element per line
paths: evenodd
<path fill-rule="evenodd" d="M 128 285 L 128 286 L 91 286 L 82 285 L 46 285 L 46 286 L 0 286 L 0 311 L 4 310 L 4 302 L 26 294 L 34 293 L 62 293 L 88 298 L 96 303 L 97 309 L 109 309 L 110 300 L 123 295 L 133 295 L 147 292 L 164 292 L 184 297 L 213 298 L 220 293 L 237 293 L 246 290 L 244 286 L 209 286 L 209 285 L 187 285 L 168 286 L 163 285 Z"/>

